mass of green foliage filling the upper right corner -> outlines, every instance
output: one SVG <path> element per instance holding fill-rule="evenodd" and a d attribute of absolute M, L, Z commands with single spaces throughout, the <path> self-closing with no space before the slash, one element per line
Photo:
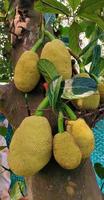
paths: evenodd
<path fill-rule="evenodd" d="M 82 65 L 90 65 L 90 73 L 96 76 L 104 74 L 101 51 L 104 41 L 103 0 L 37 0 L 34 9 L 55 14 L 53 29 L 56 36 L 63 40 L 67 38 L 67 45 L 82 60 Z M 84 49 L 79 38 L 82 32 L 85 32 L 89 41 Z"/>

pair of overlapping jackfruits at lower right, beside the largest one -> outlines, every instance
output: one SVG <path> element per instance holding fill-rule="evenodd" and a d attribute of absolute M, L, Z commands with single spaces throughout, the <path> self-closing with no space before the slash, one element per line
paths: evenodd
<path fill-rule="evenodd" d="M 55 160 L 65 169 L 77 168 L 93 150 L 93 132 L 81 118 L 68 121 L 67 131 L 56 134 L 53 139 Z"/>

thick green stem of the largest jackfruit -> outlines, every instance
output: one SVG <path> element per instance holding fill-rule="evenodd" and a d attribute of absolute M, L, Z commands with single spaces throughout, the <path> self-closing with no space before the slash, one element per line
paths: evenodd
<path fill-rule="evenodd" d="M 46 96 L 41 103 L 39 104 L 39 106 L 37 107 L 36 111 L 35 111 L 35 115 L 36 116 L 43 116 L 44 115 L 44 110 L 49 106 L 49 99 Z"/>

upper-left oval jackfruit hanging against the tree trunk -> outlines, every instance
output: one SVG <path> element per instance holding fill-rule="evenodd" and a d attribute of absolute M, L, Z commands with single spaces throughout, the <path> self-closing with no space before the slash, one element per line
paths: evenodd
<path fill-rule="evenodd" d="M 38 55 L 32 51 L 25 51 L 19 58 L 14 71 L 14 83 L 20 91 L 30 92 L 37 85 L 40 79 L 38 60 Z"/>

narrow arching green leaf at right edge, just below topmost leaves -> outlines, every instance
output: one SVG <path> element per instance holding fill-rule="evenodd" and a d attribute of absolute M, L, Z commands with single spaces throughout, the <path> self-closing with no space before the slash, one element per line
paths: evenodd
<path fill-rule="evenodd" d="M 96 13 L 92 14 L 92 12 L 84 12 L 80 14 L 80 17 L 95 22 L 102 30 L 104 30 L 104 20 Z"/>

